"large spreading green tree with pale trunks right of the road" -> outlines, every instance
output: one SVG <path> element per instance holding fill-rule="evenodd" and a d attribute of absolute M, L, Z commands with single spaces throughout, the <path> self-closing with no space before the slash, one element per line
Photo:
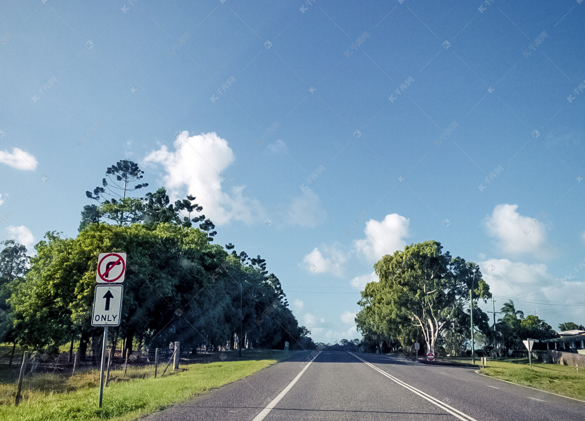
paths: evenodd
<path fill-rule="evenodd" d="M 476 264 L 452 259 L 442 248 L 431 240 L 381 258 L 374 265 L 379 285 L 367 284 L 359 302 L 366 311 L 356 318 L 360 329 L 380 336 L 394 332 L 404 346 L 413 339 L 409 326 L 415 327 L 427 351 L 434 352 L 446 329 L 462 318 L 462 302 L 469 299 L 470 290 L 474 302 L 491 296 Z M 474 315 L 478 310 L 474 308 Z M 407 332 L 406 337 L 400 332 Z"/>

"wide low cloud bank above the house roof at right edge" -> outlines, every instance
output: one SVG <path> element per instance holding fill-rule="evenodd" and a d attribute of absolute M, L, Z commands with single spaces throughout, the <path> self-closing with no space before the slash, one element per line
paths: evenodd
<path fill-rule="evenodd" d="M 525 315 L 535 314 L 545 320 L 553 329 L 559 323 L 585 321 L 582 302 L 585 282 L 569 281 L 550 274 L 545 264 L 526 264 L 508 259 L 490 259 L 479 263 L 483 279 L 490 285 L 495 296 L 496 310 L 511 299 L 517 310 Z M 491 302 L 484 311 L 491 316 Z M 497 316 L 501 318 L 500 316 Z"/>

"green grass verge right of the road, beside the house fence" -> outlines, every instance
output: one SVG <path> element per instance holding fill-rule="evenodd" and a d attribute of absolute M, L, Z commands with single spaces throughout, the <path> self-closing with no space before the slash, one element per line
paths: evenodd
<path fill-rule="evenodd" d="M 445 360 L 471 363 L 471 358 L 442 358 L 442 361 Z M 480 363 L 481 358 L 476 358 L 476 364 Z M 576 367 L 532 361 L 530 370 L 528 358 L 497 361 L 488 358 L 487 366 L 481 368 L 480 373 L 585 401 L 585 371 L 577 371 Z"/>

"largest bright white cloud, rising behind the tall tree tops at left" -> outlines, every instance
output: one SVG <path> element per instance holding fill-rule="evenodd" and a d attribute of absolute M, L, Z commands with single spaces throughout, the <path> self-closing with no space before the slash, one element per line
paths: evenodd
<path fill-rule="evenodd" d="M 196 202 L 203 206 L 204 215 L 218 225 L 233 220 L 249 223 L 257 213 L 263 213 L 256 199 L 244 196 L 245 187 L 228 186 L 228 192 L 222 190 L 225 185 L 222 183 L 226 182 L 223 171 L 235 160 L 227 140 L 215 132 L 189 136 L 184 131 L 173 146 L 174 152 L 162 146 L 144 158 L 145 163 L 163 165 L 164 184 L 171 198 L 197 196 Z"/>

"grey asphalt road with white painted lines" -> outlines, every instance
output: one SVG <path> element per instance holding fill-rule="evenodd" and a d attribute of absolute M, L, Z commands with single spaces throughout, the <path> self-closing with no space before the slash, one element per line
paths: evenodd
<path fill-rule="evenodd" d="M 379 354 L 323 351 L 146 417 L 147 421 L 581 420 L 585 403 L 476 374 Z"/>

